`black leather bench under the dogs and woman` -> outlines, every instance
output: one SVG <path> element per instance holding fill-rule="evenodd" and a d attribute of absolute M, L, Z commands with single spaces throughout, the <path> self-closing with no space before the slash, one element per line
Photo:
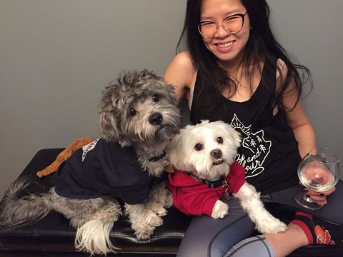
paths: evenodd
<path fill-rule="evenodd" d="M 36 179 L 36 172 L 52 163 L 62 148 L 40 150 L 30 161 L 20 176 L 31 176 Z M 40 178 L 49 188 L 51 175 Z M 268 207 L 268 206 L 267 206 Z M 284 221 L 290 221 L 294 213 L 279 210 L 273 206 Z M 1 203 L 0 203 L 1 208 Z M 154 231 L 147 241 L 138 240 L 129 226 L 126 217 L 122 216 L 114 224 L 110 233 L 111 241 L 121 247 L 118 253 L 107 256 L 144 257 L 144 256 L 176 256 L 179 244 L 192 217 L 185 216 L 176 208 L 169 208 L 164 216 L 164 224 Z M 0 256 L 88 256 L 76 252 L 74 248 L 75 230 L 69 226 L 69 221 L 60 213 L 51 212 L 48 216 L 29 226 L 7 230 L 0 228 Z M 252 253 L 252 256 L 254 254 Z M 299 248 L 290 256 L 343 256 L 342 246 L 307 246 Z M 196 256 L 194 256 L 196 257 Z"/>

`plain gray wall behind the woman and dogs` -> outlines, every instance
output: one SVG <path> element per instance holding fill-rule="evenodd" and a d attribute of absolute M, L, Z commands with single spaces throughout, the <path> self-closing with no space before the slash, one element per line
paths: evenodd
<path fill-rule="evenodd" d="M 0 0 L 0 195 L 41 148 L 97 138 L 101 90 L 121 70 L 163 76 L 185 0 Z M 284 47 L 308 66 L 318 144 L 343 157 L 343 1 L 269 0 Z"/>

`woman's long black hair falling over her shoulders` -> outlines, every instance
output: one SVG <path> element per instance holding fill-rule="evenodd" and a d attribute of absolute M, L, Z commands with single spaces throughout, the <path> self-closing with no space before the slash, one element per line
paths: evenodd
<path fill-rule="evenodd" d="M 292 80 L 295 82 L 298 102 L 302 93 L 302 85 L 306 83 L 306 81 L 309 81 L 310 85 L 312 86 L 311 74 L 305 66 L 293 64 L 286 51 L 279 44 L 277 39 L 275 39 L 269 24 L 270 9 L 267 1 L 241 0 L 241 2 L 247 9 L 250 25 L 252 26 L 241 63 L 241 65 L 247 68 L 245 69 L 244 75 L 247 76 L 248 79 L 252 79 L 256 69 L 259 69 L 259 72 L 262 72 L 259 64 L 263 60 L 265 63 L 267 62 L 268 64 L 274 64 L 274 66 L 269 65 L 269 69 L 278 69 L 280 74 L 282 74 L 282 71 L 279 69 L 279 66 L 277 66 L 275 61 L 276 59 L 282 59 L 288 68 L 288 73 L 276 92 L 275 101 L 280 111 L 285 114 L 285 112 L 289 110 L 285 108 L 282 99 L 284 94 L 287 93 L 287 86 L 289 85 L 289 82 Z M 221 101 L 219 96 L 224 87 L 229 89 L 229 93 L 232 96 L 236 91 L 237 85 L 235 81 L 229 77 L 227 71 L 224 71 L 224 69 L 217 64 L 217 57 L 214 56 L 214 54 L 212 54 L 212 52 L 209 51 L 204 45 L 202 36 L 197 30 L 201 4 L 201 0 L 187 1 L 184 28 L 182 30 L 177 49 L 180 49 L 182 41 L 185 40 L 189 54 L 192 58 L 194 69 L 198 71 L 198 95 L 203 95 L 201 94 L 203 91 L 207 91 L 208 94 L 209 86 L 214 90 L 214 98 L 207 97 L 207 99 L 202 99 L 204 107 L 211 111 L 211 109 L 213 109 L 215 106 L 213 101 Z M 302 78 L 299 76 L 298 71 L 302 71 Z M 272 87 L 274 87 L 275 84 L 270 83 L 269 81 L 264 82 L 265 85 L 270 87 L 269 90 L 274 92 L 275 89 Z M 293 108 L 296 106 L 297 102 L 294 104 Z"/>

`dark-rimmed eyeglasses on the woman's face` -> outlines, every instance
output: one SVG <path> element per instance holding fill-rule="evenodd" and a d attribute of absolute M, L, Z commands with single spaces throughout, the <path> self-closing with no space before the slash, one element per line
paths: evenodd
<path fill-rule="evenodd" d="M 247 14 L 247 11 L 245 14 Z M 228 16 L 220 23 L 213 21 L 202 21 L 198 25 L 198 30 L 205 39 L 214 38 L 214 36 L 217 34 L 218 25 L 222 25 L 223 29 L 229 34 L 235 34 L 242 29 L 245 14 L 234 14 Z"/>

